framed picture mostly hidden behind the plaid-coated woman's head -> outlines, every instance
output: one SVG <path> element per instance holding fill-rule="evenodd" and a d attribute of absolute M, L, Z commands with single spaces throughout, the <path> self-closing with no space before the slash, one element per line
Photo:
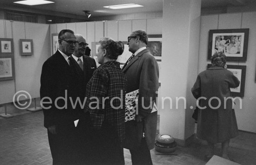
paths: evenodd
<path fill-rule="evenodd" d="M 120 62 L 120 67 L 122 68 L 122 66 L 124 66 L 124 64 L 126 63 L 126 61 L 129 59 L 129 57 L 132 55 L 131 52 L 129 52 L 129 46 L 127 45 L 127 41 L 122 41 L 124 43 L 124 51 L 123 53 L 118 56 L 118 58 L 116 59 L 116 61 Z M 97 67 L 100 66 L 100 64 L 98 63 L 98 58 L 97 58 L 97 50 L 98 47 L 100 46 L 99 42 L 92 42 L 92 58 L 95 59 L 96 61 L 96 65 Z"/>

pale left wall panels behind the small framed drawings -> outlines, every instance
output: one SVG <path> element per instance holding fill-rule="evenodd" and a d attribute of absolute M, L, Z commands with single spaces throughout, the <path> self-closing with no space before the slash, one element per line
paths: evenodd
<path fill-rule="evenodd" d="M 50 56 L 49 25 L 0 20 L 0 38 L 13 38 L 15 79 L 0 81 L 0 104 L 13 101 L 15 92 L 24 90 L 32 98 L 40 97 L 43 62 Z M 34 53 L 20 55 L 20 39 L 33 40 Z M 20 97 L 20 99 L 26 99 Z"/>

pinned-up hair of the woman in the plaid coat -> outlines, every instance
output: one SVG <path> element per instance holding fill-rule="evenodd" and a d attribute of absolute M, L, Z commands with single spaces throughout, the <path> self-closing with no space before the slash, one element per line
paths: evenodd
<path fill-rule="evenodd" d="M 109 59 L 117 59 L 123 53 L 124 44 L 121 41 L 115 41 L 111 38 L 104 37 L 99 43 L 102 49 L 107 50 L 107 57 Z"/>

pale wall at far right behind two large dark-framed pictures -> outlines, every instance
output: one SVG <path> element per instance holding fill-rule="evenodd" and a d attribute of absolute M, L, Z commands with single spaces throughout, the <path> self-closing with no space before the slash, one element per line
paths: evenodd
<path fill-rule="evenodd" d="M 236 101 L 235 111 L 238 129 L 256 132 L 256 13 L 232 13 L 201 16 L 200 48 L 198 73 L 211 63 L 207 59 L 209 30 L 249 28 L 247 61 L 230 62 L 228 65 L 244 65 L 246 67 L 245 91 L 242 98 L 242 109 Z"/>

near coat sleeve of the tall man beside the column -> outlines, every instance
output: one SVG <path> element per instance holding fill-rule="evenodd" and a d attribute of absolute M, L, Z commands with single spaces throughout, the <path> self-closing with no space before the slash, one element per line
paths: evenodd
<path fill-rule="evenodd" d="M 155 58 L 150 55 L 143 59 L 140 74 L 138 109 L 139 114 L 148 116 L 152 111 L 159 87 L 159 68 Z"/>

